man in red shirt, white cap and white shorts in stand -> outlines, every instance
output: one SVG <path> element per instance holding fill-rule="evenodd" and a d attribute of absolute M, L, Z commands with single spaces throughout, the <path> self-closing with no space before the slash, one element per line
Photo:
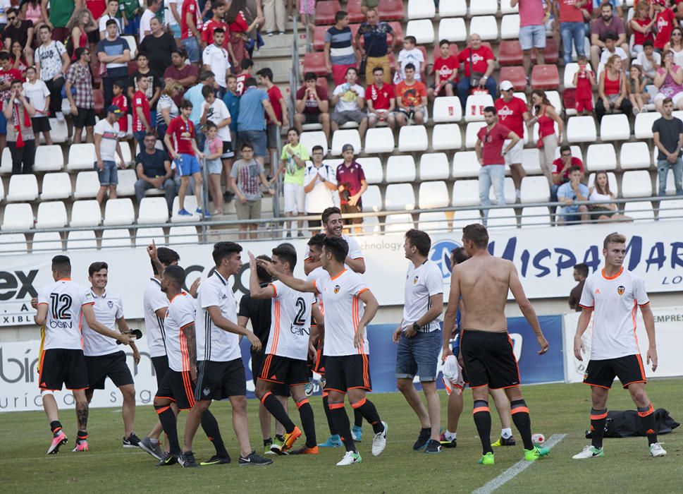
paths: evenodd
<path fill-rule="evenodd" d="M 527 173 L 522 167 L 522 152 L 524 152 L 524 122 L 529 121 L 531 116 L 527 111 L 527 104 L 524 100 L 515 97 L 515 88 L 509 80 L 500 83 L 500 98 L 493 103 L 498 112 L 500 123 L 509 128 L 512 132 L 519 135 L 515 147 L 505 155 L 505 164 L 510 167 L 512 182 L 515 183 L 515 196 L 519 200 L 519 190 L 522 188 L 522 179 Z M 507 143 L 505 143 L 507 145 Z"/>

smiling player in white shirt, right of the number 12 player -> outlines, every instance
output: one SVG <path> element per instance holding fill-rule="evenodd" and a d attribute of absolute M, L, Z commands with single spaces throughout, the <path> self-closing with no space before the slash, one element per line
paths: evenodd
<path fill-rule="evenodd" d="M 121 296 L 106 290 L 109 275 L 109 265 L 104 262 L 92 263 L 88 267 L 88 281 L 91 284 L 90 294 L 94 300 L 92 306 L 97 321 L 110 330 L 116 332 L 130 332 L 128 323 L 123 318 L 123 303 Z M 130 342 L 133 349 L 133 361 L 140 363 L 140 351 L 134 342 Z M 85 391 L 88 404 L 92 400 L 94 390 L 104 390 L 104 381 L 111 379 L 123 396 L 123 447 L 138 447 L 140 438 L 133 432 L 135 426 L 135 384 L 128 364 L 125 362 L 125 352 L 116 344 L 116 340 L 83 325 L 83 353 L 88 375 L 88 389 Z"/>

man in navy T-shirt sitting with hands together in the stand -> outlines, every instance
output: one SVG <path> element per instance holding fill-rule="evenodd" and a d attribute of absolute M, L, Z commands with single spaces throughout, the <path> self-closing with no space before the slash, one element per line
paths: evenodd
<path fill-rule="evenodd" d="M 156 135 L 150 132 L 144 135 L 144 148 L 135 157 L 135 198 L 140 205 L 144 193 L 151 188 L 163 189 L 168 207 L 168 216 L 173 211 L 173 198 L 176 197 L 176 184 L 173 183 L 171 161 L 166 152 L 156 149 Z"/>

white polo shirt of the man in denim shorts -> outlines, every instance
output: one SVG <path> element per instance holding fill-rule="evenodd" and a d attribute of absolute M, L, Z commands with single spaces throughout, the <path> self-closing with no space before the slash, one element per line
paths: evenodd
<path fill-rule="evenodd" d="M 436 294 L 443 294 L 443 277 L 441 269 L 431 260 L 426 260 L 422 265 L 415 267 L 409 263 L 408 272 L 405 275 L 405 288 L 403 289 L 403 329 L 412 325 L 415 321 L 429 311 L 431 302 L 429 298 Z M 421 331 L 431 332 L 440 328 L 439 318 L 431 321 L 420 328 Z"/>

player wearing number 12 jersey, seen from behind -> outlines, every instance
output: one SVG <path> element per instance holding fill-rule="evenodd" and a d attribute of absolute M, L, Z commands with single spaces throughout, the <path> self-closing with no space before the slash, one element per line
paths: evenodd
<path fill-rule="evenodd" d="M 66 255 L 52 258 L 52 278 L 54 283 L 38 294 L 34 317 L 35 323 L 42 328 L 38 387 L 52 431 L 47 454 L 59 452 L 59 447 L 67 442 L 53 394 L 61 390 L 62 385 L 73 392 L 76 406 L 78 440 L 74 451 L 87 451 L 88 404 L 85 390 L 88 382 L 80 331 L 82 318 L 92 330 L 123 344 L 129 344 L 132 338 L 97 322 L 92 294 L 89 289 L 71 281 L 71 261 Z"/>

